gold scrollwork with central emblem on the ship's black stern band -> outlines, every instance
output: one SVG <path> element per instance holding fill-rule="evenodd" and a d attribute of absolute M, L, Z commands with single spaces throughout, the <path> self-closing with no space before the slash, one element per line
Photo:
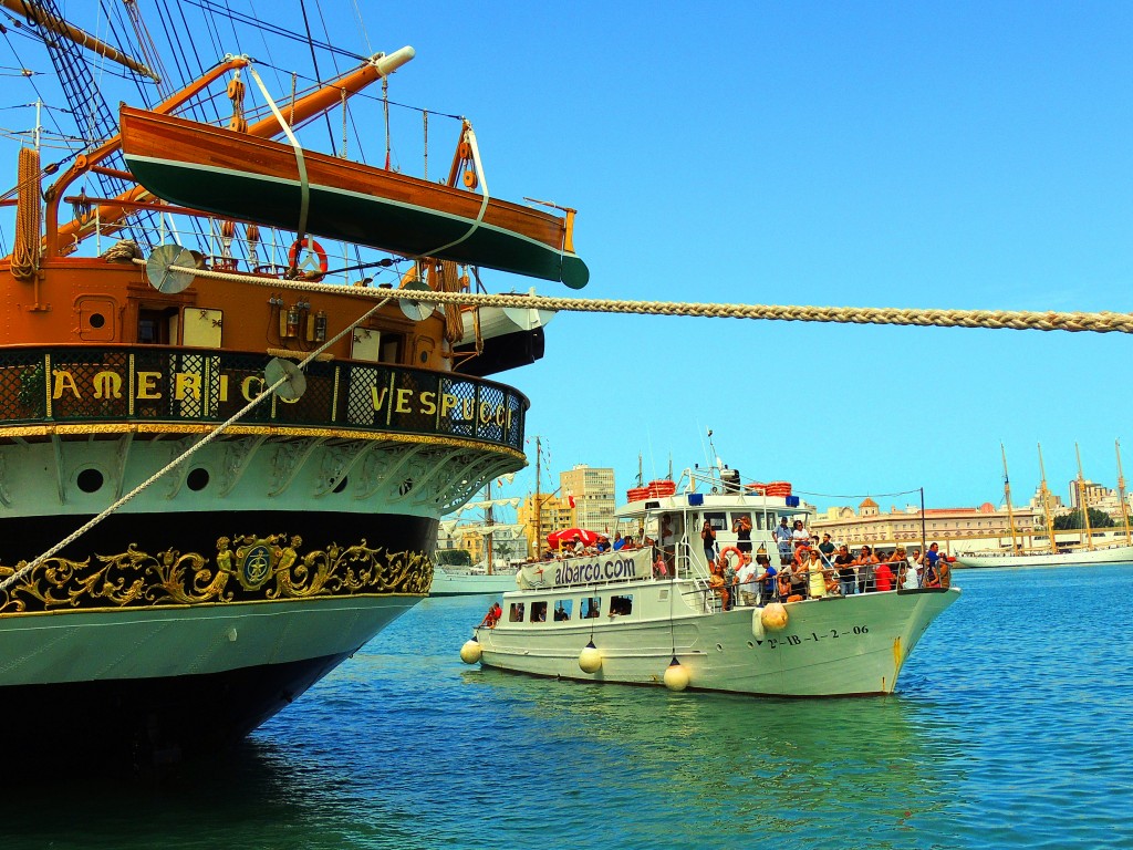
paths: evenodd
<path fill-rule="evenodd" d="M 303 538 L 221 537 L 213 559 L 131 543 L 94 563 L 51 558 L 0 593 L 0 615 L 66 609 L 159 607 L 373 594 L 425 595 L 433 563 L 423 552 L 389 552 L 366 541 L 300 554 Z M 0 566 L 0 580 L 23 569 Z"/>

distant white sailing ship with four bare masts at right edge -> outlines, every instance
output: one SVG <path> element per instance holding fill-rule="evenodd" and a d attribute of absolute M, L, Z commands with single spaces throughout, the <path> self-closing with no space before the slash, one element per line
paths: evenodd
<path fill-rule="evenodd" d="M 1125 479 L 1122 476 L 1121 447 L 1117 447 L 1118 493 L 1122 500 L 1122 513 L 1125 517 L 1125 543 L 1098 545 L 1093 542 L 1090 528 L 1090 510 L 1085 494 L 1085 478 L 1082 476 L 1082 458 L 1077 457 L 1077 493 L 1083 516 L 1083 532 L 1077 545 L 1059 542 L 1055 537 L 1054 518 L 1050 512 L 1050 491 L 1047 488 L 1046 468 L 1042 465 L 1042 447 L 1039 447 L 1039 484 L 1042 512 L 1047 524 L 1047 542 L 1040 546 L 1023 546 L 1021 535 L 1016 534 L 1014 513 L 1011 504 L 1011 483 L 1007 476 L 1007 454 L 999 445 L 1003 454 L 1004 498 L 1007 502 L 1007 519 L 1011 524 L 1011 549 L 999 552 L 972 552 L 956 556 L 956 566 L 962 568 L 983 567 L 1085 567 L 1104 563 L 1133 562 L 1133 543 L 1130 541 L 1128 515 L 1125 510 Z M 1077 445 L 1074 445 L 1077 454 Z"/>

